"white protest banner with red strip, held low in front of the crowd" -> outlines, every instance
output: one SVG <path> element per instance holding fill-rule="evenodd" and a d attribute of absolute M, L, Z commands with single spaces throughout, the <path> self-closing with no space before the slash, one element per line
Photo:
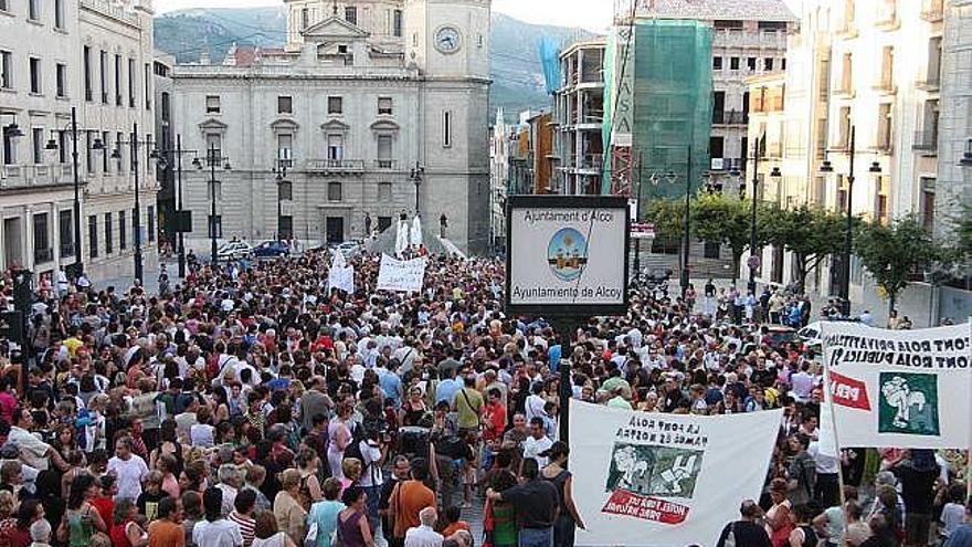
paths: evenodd
<path fill-rule="evenodd" d="M 759 499 L 782 409 L 691 415 L 570 401 L 577 545 L 711 547 Z"/>

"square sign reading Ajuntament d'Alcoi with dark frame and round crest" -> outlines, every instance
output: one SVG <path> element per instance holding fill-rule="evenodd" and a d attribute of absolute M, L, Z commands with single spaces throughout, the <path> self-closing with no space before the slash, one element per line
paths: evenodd
<path fill-rule="evenodd" d="M 507 223 L 507 306 L 553 315 L 623 313 L 628 209 L 624 198 L 515 196 Z"/>

